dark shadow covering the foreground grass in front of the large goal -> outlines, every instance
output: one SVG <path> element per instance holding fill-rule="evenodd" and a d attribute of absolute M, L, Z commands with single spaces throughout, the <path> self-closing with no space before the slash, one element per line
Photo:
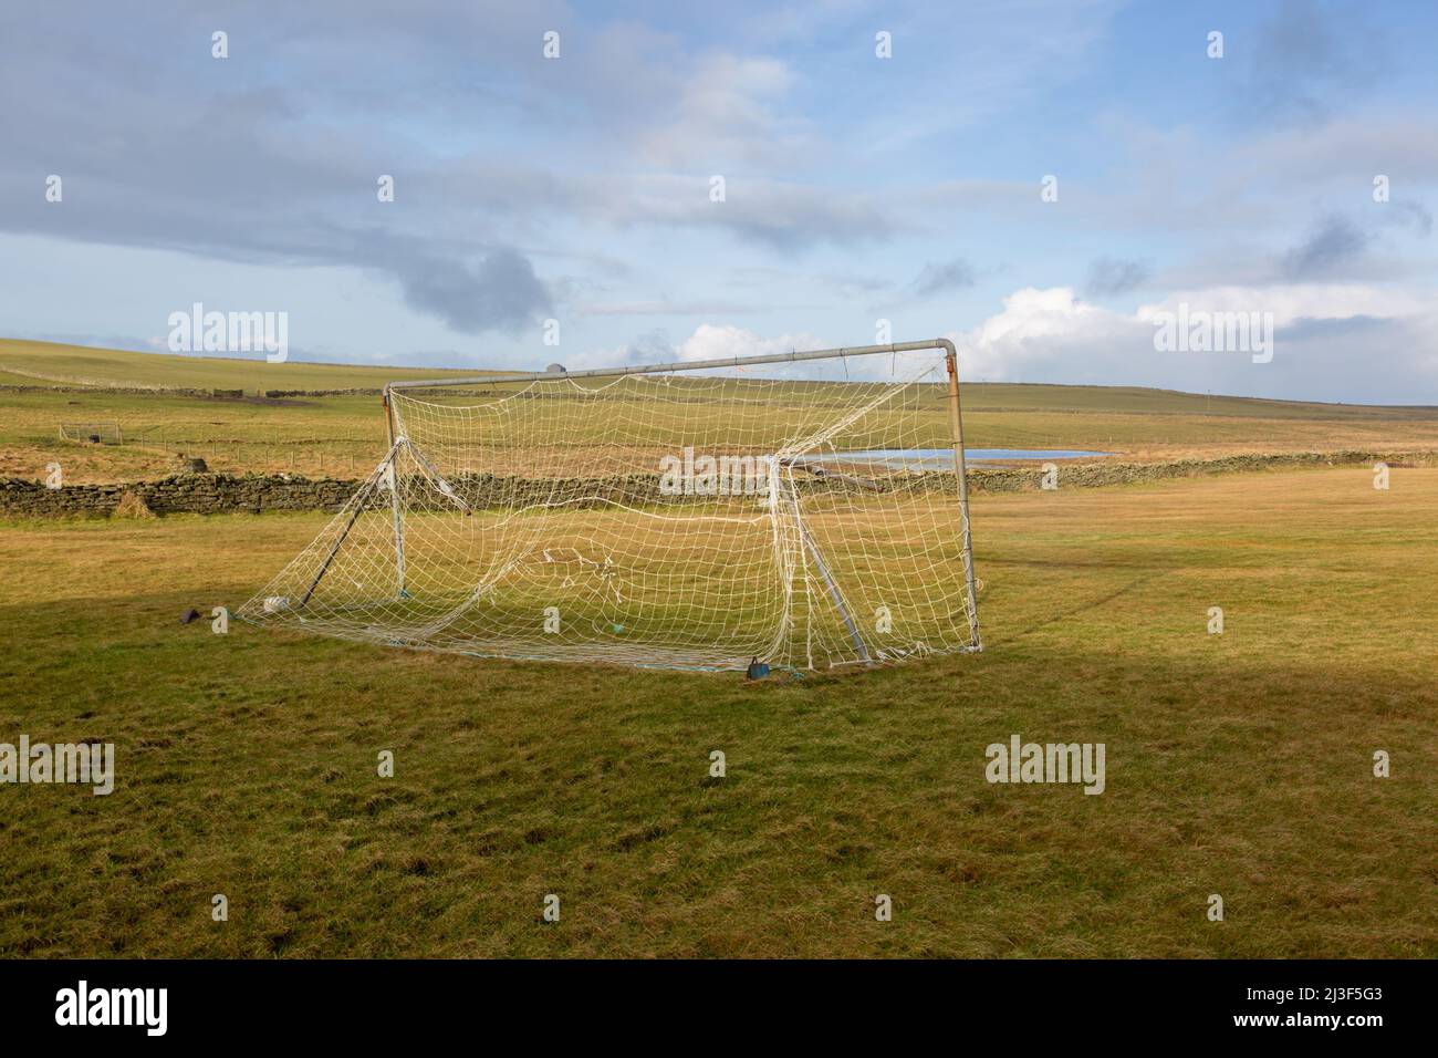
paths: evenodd
<path fill-rule="evenodd" d="M 0 609 L 3 730 L 112 740 L 119 770 L 111 797 L 7 792 L 0 954 L 1434 950 L 1415 674 L 1195 636 L 755 685 L 221 638 L 181 602 Z M 1104 743 L 1104 795 L 988 783 L 1012 733 Z M 1209 928 L 1212 891 L 1241 930 Z M 546 892 L 562 928 L 535 924 Z"/>

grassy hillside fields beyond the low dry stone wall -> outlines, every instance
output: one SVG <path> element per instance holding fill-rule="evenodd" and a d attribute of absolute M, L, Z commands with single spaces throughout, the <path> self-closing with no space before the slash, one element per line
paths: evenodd
<path fill-rule="evenodd" d="M 290 471 L 355 476 L 384 453 L 375 396 L 216 399 L 95 389 L 200 386 L 301 390 L 377 387 L 443 376 L 434 370 L 265 364 L 0 340 L 0 476 L 43 478 L 60 462 L 73 484 L 135 481 L 171 472 L 175 453 L 227 472 Z M 1294 451 L 1438 451 L 1438 409 L 1311 404 L 1168 390 L 966 384 L 974 448 L 1073 448 L 1163 461 L 1195 455 Z M 115 422 L 138 443 L 63 443 L 62 422 Z"/>

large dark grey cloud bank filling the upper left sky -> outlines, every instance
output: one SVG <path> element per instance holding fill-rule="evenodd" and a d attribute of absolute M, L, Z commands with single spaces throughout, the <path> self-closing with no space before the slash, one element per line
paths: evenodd
<path fill-rule="evenodd" d="M 344 83 L 360 95 L 335 98 L 334 83 L 293 65 L 295 42 L 276 39 L 259 12 L 158 3 L 127 20 L 99 7 L 60 14 L 12 14 L 0 29 L 0 230 L 361 268 L 472 334 L 512 331 L 549 308 L 515 232 L 475 209 L 483 187 L 462 202 L 426 197 L 421 174 L 440 164 L 433 154 L 403 127 L 351 121 L 370 92 L 383 92 L 351 72 Z M 286 22 L 283 9 L 269 14 Z M 434 12 L 420 4 L 414 16 L 426 23 Z M 89 19 L 91 32 L 75 33 Z M 295 23 L 316 37 L 319 66 L 332 56 L 325 35 L 342 35 L 342 22 L 324 32 Z M 224 60 L 209 53 L 216 26 L 230 33 Z M 104 48 L 92 43 L 101 27 Z M 40 194 L 49 173 L 65 181 L 60 203 Z M 378 202 L 380 174 L 395 177 L 395 203 Z"/>

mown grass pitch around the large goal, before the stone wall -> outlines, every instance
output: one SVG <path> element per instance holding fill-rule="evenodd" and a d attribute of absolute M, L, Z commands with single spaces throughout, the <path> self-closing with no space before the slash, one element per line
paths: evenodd
<path fill-rule="evenodd" d="M 1438 471 L 984 495 L 985 654 L 759 684 L 177 622 L 322 521 L 0 527 L 0 740 L 118 769 L 0 790 L 0 954 L 1438 954 Z"/>

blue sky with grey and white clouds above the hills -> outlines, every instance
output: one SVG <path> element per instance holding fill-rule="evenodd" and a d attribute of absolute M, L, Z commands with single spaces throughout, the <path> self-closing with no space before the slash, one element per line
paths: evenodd
<path fill-rule="evenodd" d="M 165 351 L 200 302 L 295 360 L 574 370 L 887 324 L 969 380 L 1438 404 L 1435 39 L 1401 0 L 6 4 L 0 335 Z M 1159 348 L 1181 311 L 1271 356 Z"/>

